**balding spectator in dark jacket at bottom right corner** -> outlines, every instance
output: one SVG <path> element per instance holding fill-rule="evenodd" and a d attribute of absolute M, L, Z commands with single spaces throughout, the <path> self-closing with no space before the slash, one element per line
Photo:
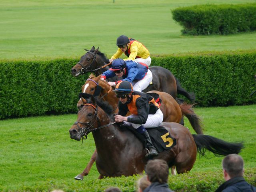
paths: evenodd
<path fill-rule="evenodd" d="M 230 154 L 222 160 L 223 175 L 226 182 L 215 192 L 256 192 L 256 188 L 243 178 L 244 160 L 240 155 Z"/>

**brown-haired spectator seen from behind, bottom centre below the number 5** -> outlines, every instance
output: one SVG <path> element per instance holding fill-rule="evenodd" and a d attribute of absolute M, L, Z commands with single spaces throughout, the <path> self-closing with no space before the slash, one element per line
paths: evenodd
<path fill-rule="evenodd" d="M 169 167 L 166 161 L 162 159 L 149 160 L 145 171 L 151 185 L 143 192 L 173 192 L 167 184 Z"/>

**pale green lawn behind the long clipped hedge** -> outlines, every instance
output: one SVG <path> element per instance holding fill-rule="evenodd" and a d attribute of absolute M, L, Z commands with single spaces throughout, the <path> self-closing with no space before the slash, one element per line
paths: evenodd
<path fill-rule="evenodd" d="M 247 2 L 255 0 L 2 0 L 0 58 L 78 58 L 93 45 L 111 56 L 121 34 L 139 40 L 154 56 L 256 49 L 256 32 L 183 36 L 170 11 L 195 4 Z"/>

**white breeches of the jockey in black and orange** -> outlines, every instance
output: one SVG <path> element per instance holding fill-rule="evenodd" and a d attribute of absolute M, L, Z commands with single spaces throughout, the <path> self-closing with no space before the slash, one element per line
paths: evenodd
<path fill-rule="evenodd" d="M 136 116 L 136 115 L 130 115 L 128 117 L 134 117 L 134 116 Z M 164 119 L 164 115 L 163 115 L 162 111 L 160 109 L 158 109 L 155 114 L 148 115 L 148 119 L 143 126 L 144 126 L 144 128 L 158 127 L 163 122 L 163 119 Z M 137 129 L 138 127 L 141 126 L 140 124 L 134 124 L 134 123 L 126 122 L 126 121 L 124 123 L 127 125 L 131 125 L 135 129 Z"/>

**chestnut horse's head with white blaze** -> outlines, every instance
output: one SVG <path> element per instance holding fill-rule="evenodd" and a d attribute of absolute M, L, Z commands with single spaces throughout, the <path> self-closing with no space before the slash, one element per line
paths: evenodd
<path fill-rule="evenodd" d="M 91 74 L 82 86 L 82 92 L 93 95 L 94 97 L 104 97 L 104 92 L 108 94 L 112 90 L 112 88 L 108 85 L 107 82 L 100 80 L 100 76 L 101 75 L 95 77 L 93 74 Z M 79 99 L 78 103 L 76 104 L 78 110 L 83 107 L 85 102 L 86 101 L 83 98 Z"/>

